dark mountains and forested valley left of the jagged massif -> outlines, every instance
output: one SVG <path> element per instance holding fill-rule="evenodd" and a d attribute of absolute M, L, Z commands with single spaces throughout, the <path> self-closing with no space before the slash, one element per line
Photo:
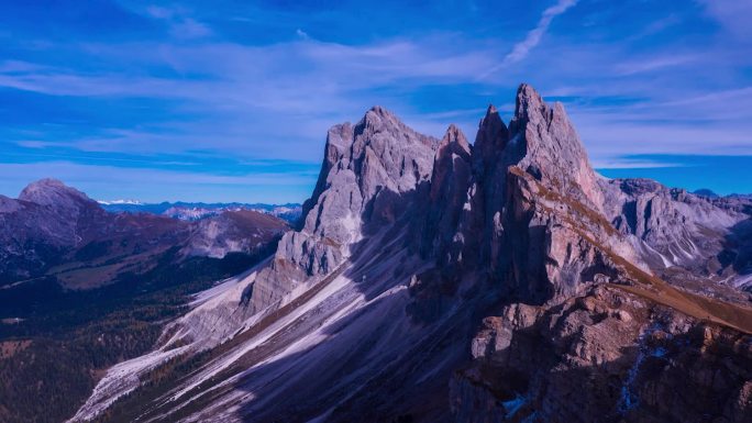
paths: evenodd
<path fill-rule="evenodd" d="M 266 259 L 288 229 L 244 209 L 109 213 L 54 179 L 0 196 L 0 422 L 68 419 L 103 369 L 146 353 L 195 292 Z"/>

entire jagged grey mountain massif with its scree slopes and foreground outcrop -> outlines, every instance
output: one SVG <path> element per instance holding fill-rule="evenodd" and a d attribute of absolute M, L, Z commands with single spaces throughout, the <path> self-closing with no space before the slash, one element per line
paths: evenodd
<path fill-rule="evenodd" d="M 607 180 L 516 104 L 473 146 L 332 127 L 301 227 L 71 421 L 749 421 L 749 200 Z"/>

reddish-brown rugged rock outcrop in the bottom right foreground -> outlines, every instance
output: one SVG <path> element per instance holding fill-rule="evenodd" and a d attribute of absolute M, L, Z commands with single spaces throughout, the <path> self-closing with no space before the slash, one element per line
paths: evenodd
<path fill-rule="evenodd" d="M 616 288 L 484 320 L 452 379 L 464 422 L 744 422 L 750 335 Z"/>

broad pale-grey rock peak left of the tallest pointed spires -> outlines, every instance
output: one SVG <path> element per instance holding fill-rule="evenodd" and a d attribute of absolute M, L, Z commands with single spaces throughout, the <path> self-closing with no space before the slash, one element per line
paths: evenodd
<path fill-rule="evenodd" d="M 283 236 L 270 266 L 250 287 L 251 312 L 331 274 L 364 235 L 397 221 L 430 177 L 435 145 L 379 107 L 355 125 L 330 129 L 302 227 Z"/>

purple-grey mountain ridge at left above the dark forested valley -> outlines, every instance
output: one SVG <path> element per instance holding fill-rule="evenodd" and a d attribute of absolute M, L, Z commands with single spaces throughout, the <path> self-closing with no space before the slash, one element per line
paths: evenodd
<path fill-rule="evenodd" d="M 54 275 L 66 288 L 96 288 L 150 268 L 169 249 L 181 257 L 251 254 L 288 227 L 272 213 L 243 208 L 201 218 L 209 221 L 108 213 L 58 180 L 33 182 L 18 200 L 0 197 L 0 286 Z"/>

